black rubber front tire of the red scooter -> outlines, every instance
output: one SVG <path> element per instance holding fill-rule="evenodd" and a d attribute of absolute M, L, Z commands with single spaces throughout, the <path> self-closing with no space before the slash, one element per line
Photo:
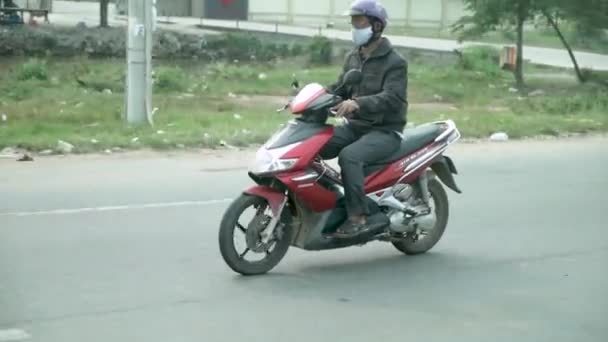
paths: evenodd
<path fill-rule="evenodd" d="M 237 230 L 247 234 L 247 230 L 251 229 L 251 227 L 248 227 L 249 224 L 241 224 L 239 218 L 247 208 L 252 206 L 268 207 L 268 202 L 258 196 L 242 194 L 230 204 L 224 213 L 219 230 L 219 247 L 222 258 L 233 271 L 245 276 L 260 275 L 272 270 L 287 253 L 291 245 L 293 232 L 287 214 L 289 210 L 285 207 L 281 220 L 275 229 L 275 235 L 278 237 L 274 241 L 272 249 L 264 251 L 266 255 L 260 261 L 245 260 L 244 257 L 251 249 L 248 246 L 244 252 L 245 255 L 243 252 L 238 252 L 234 245 L 234 237 Z"/>

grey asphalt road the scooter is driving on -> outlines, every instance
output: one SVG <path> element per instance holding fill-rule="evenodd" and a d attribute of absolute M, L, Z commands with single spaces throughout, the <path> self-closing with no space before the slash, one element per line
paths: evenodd
<path fill-rule="evenodd" d="M 217 246 L 251 153 L 0 160 L 0 341 L 605 342 L 607 143 L 457 145 L 431 253 L 292 249 L 255 278 Z"/>

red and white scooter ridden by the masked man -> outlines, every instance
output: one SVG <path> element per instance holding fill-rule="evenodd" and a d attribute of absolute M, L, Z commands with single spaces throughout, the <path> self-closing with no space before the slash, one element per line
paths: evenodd
<path fill-rule="evenodd" d="M 344 79 L 343 86 L 359 83 L 361 72 L 351 70 Z M 387 241 L 403 253 L 419 254 L 441 239 L 449 213 L 441 182 L 461 192 L 454 163 L 444 155 L 460 139 L 451 120 L 406 129 L 397 153 L 365 167 L 369 206 L 390 223 L 350 239 L 332 236 L 347 219 L 344 189 L 340 173 L 319 152 L 332 137 L 334 126 L 327 119 L 340 101 L 323 86 L 308 84 L 286 106 L 298 117 L 257 152 L 249 172 L 257 185 L 230 204 L 219 229 L 222 257 L 235 272 L 267 273 L 290 246 L 315 251 Z M 248 209 L 252 213 L 244 219 Z M 241 250 L 234 241 L 239 235 L 246 244 Z"/>

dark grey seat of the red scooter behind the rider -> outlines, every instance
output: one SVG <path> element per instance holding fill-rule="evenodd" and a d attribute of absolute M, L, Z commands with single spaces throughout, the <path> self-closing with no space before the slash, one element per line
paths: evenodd
<path fill-rule="evenodd" d="M 376 171 L 381 170 L 386 165 L 396 162 L 397 160 L 404 158 L 424 146 L 430 144 L 435 138 L 443 133 L 443 128 L 440 125 L 423 125 L 416 128 L 408 128 L 403 131 L 403 140 L 401 141 L 401 147 L 395 151 L 388 158 L 374 162 L 373 164 L 366 165 L 364 173 L 366 175 L 372 174 Z"/>

